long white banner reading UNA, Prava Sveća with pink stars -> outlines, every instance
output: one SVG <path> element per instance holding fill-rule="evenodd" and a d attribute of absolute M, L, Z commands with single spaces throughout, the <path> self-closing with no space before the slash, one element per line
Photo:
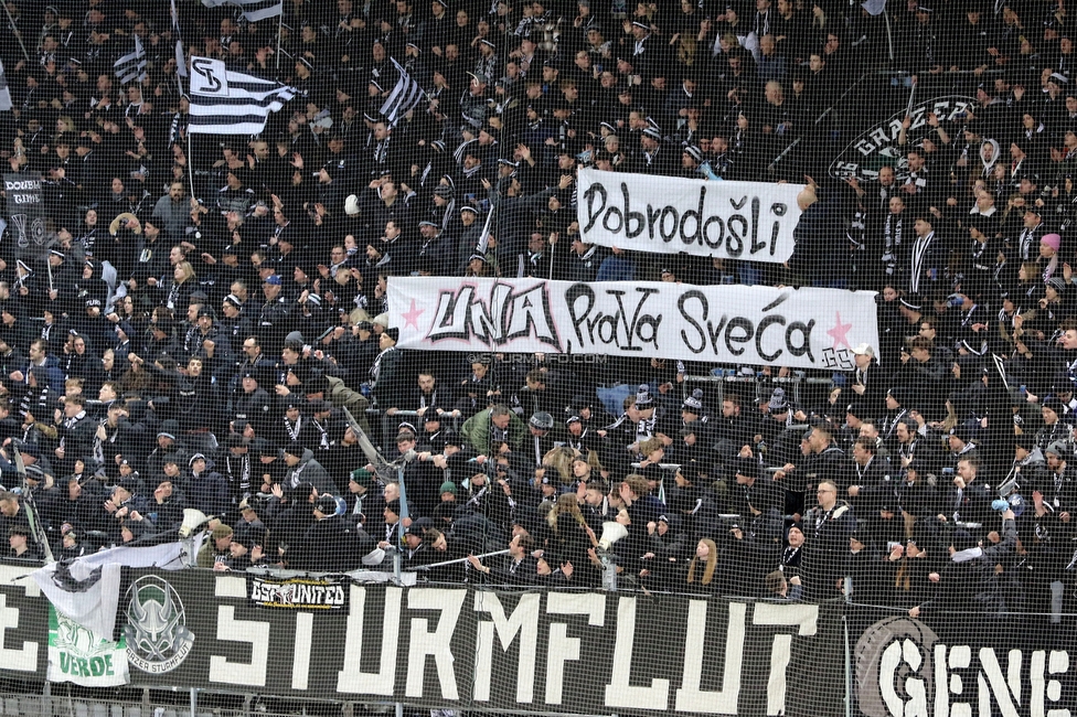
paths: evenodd
<path fill-rule="evenodd" d="M 875 292 L 668 282 L 393 277 L 401 349 L 661 356 L 853 368 L 878 346 Z"/>

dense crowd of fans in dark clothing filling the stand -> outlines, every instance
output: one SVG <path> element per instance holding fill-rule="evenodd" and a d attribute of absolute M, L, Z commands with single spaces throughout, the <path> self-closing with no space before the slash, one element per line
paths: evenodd
<path fill-rule="evenodd" d="M 8 2 L 0 156 L 41 176 L 50 218 L 41 256 L 0 242 L 11 555 L 159 539 L 195 507 L 218 517 L 213 569 L 393 548 L 457 560 L 434 580 L 586 587 L 615 522 L 633 587 L 1057 612 L 1077 563 L 1073 22 L 875 4 L 285 0 L 278 31 L 183 1 L 186 57 L 300 92 L 259 136 L 192 137 L 168 3 Z M 125 86 L 131 35 L 148 67 Z M 774 180 L 887 38 L 918 92 L 975 103 L 907 118 L 871 178 L 813 172 L 787 266 L 580 239 L 578 167 Z M 425 95 L 393 121 L 397 65 Z M 713 365 L 397 349 L 388 278 L 438 275 L 871 289 L 881 341 L 803 405 L 779 367 L 719 399 L 685 383 Z"/>

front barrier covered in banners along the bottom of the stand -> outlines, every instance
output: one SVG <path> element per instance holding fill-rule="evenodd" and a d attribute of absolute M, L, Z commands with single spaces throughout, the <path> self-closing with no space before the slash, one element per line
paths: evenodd
<path fill-rule="evenodd" d="M 842 602 L 130 569 L 105 643 L 50 618 L 33 569 L 0 564 L 0 681 L 126 675 L 535 714 L 1069 717 L 1077 704 L 1077 616 L 920 621 Z"/>

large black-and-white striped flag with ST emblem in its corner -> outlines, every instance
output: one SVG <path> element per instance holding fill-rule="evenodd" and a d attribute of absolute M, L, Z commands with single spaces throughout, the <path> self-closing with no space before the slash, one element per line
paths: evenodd
<path fill-rule="evenodd" d="M 269 113 L 296 96 L 296 88 L 236 69 L 220 60 L 191 58 L 191 120 L 196 135 L 257 135 Z"/>

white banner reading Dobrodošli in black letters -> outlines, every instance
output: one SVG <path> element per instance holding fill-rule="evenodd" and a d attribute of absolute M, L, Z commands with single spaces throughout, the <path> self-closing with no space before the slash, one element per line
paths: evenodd
<path fill-rule="evenodd" d="M 802 189 L 580 169 L 576 218 L 588 244 L 780 264 L 792 256 Z"/>

